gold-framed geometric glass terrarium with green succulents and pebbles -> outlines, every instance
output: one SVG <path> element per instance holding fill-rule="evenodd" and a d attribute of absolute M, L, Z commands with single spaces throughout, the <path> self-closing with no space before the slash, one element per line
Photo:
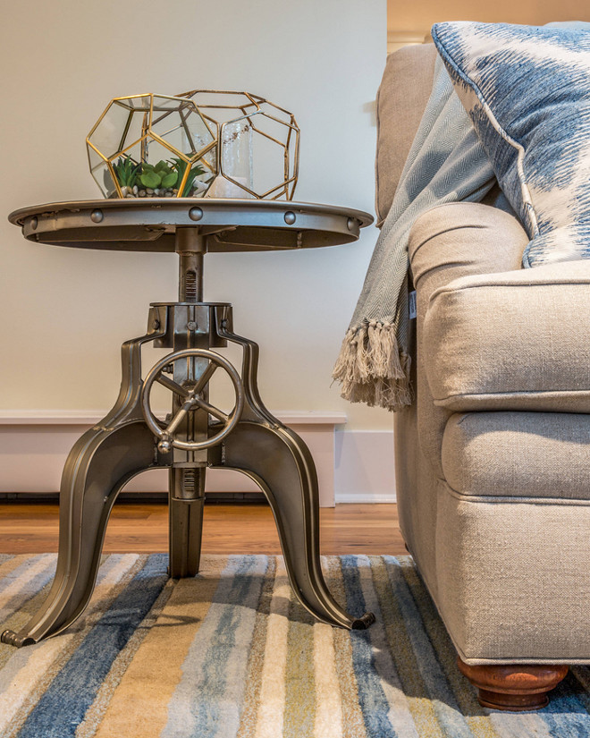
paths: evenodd
<path fill-rule="evenodd" d="M 106 198 L 202 197 L 218 172 L 218 124 L 187 98 L 114 98 L 86 139 Z"/>

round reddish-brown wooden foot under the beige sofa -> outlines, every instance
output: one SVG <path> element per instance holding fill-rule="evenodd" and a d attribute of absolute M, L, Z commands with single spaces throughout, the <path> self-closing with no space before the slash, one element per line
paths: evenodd
<path fill-rule="evenodd" d="M 468 666 L 460 657 L 457 665 L 461 674 L 479 690 L 482 707 L 513 712 L 544 708 L 549 703 L 547 692 L 568 674 L 568 666 Z"/>

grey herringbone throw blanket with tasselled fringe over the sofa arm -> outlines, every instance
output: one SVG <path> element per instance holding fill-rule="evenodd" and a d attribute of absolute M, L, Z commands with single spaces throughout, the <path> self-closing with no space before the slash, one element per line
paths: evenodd
<path fill-rule="evenodd" d="M 438 57 L 432 94 L 333 370 L 342 397 L 390 411 L 412 402 L 409 230 L 418 216 L 437 205 L 483 199 L 494 182 L 485 150 Z"/>

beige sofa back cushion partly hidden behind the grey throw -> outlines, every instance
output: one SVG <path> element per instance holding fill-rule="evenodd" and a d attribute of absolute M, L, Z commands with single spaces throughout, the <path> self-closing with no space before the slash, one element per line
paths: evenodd
<path fill-rule="evenodd" d="M 402 47 L 387 58 L 377 93 L 377 226 L 392 207 L 403 165 L 433 89 L 434 44 Z"/>

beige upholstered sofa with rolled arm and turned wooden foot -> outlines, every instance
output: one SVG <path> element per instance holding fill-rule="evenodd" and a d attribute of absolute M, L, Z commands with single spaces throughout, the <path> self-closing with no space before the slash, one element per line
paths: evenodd
<path fill-rule="evenodd" d="M 434 56 L 388 59 L 381 222 Z M 417 220 L 415 400 L 395 417 L 402 534 L 463 673 L 483 704 L 508 709 L 543 705 L 568 665 L 590 664 L 590 262 L 522 269 L 527 242 L 490 204 Z"/>

